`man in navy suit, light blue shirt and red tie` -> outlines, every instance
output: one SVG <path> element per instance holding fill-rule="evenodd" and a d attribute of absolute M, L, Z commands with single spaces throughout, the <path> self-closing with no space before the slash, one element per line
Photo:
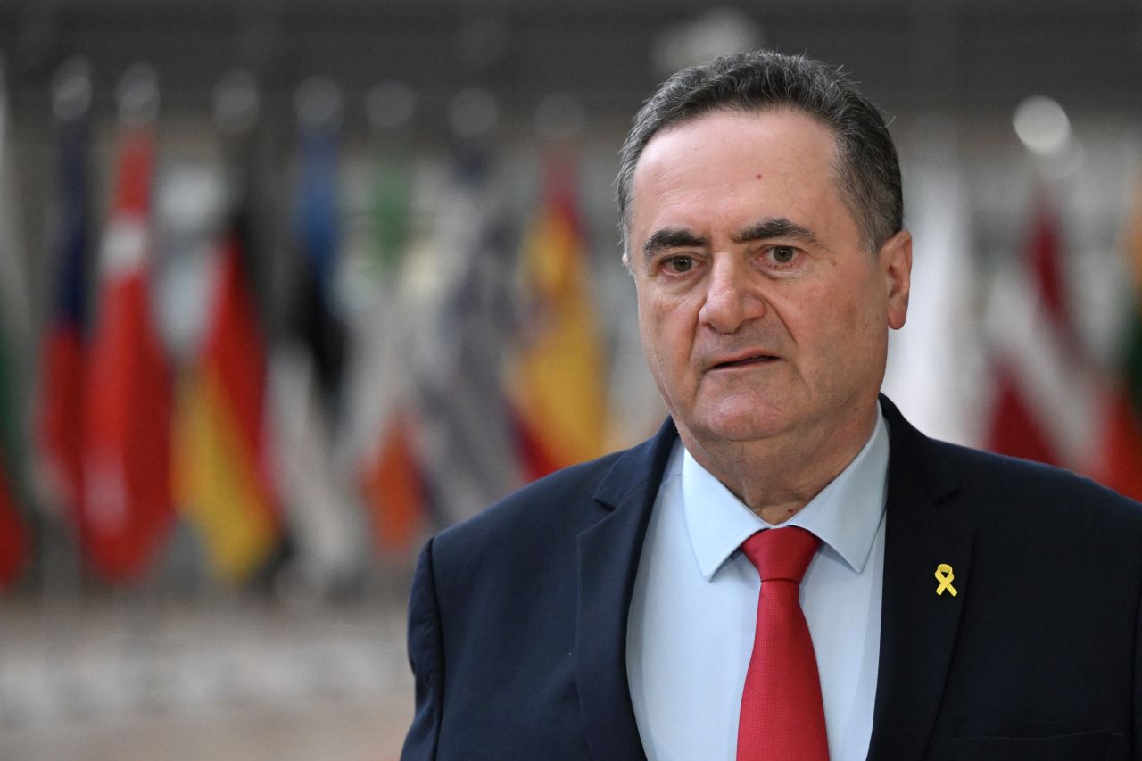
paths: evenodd
<path fill-rule="evenodd" d="M 878 396 L 911 240 L 876 109 L 729 56 L 621 159 L 670 419 L 428 543 L 403 758 L 1142 759 L 1139 505 Z"/>

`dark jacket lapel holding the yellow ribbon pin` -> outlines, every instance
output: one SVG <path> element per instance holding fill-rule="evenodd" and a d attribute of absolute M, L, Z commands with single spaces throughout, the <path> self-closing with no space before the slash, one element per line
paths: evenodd
<path fill-rule="evenodd" d="M 972 529 L 939 507 L 958 488 L 931 442 L 882 396 L 888 419 L 887 523 L 880 666 L 869 761 L 920 759 L 944 692 L 964 600 L 971 594 Z M 936 569 L 957 594 L 936 594 Z"/>

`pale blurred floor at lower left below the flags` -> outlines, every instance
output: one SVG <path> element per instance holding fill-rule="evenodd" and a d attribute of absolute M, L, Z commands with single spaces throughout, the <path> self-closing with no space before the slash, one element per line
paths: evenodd
<path fill-rule="evenodd" d="M 412 715 L 400 603 L 0 608 L 0 759 L 386 761 Z"/>

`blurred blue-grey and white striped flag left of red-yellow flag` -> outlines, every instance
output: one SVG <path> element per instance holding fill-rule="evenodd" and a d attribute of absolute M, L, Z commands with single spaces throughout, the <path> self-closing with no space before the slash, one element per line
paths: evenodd
<path fill-rule="evenodd" d="M 513 241 L 490 157 L 461 149 L 436 215 L 433 270 L 440 278 L 415 373 L 419 454 L 431 504 L 445 522 L 472 516 L 521 482 L 504 391 L 515 328 Z"/>

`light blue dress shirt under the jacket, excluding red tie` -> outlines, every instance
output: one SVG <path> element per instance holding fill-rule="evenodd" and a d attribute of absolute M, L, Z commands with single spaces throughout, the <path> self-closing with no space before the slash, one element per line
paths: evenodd
<path fill-rule="evenodd" d="M 880 646 L 888 431 L 786 526 L 820 537 L 801 584 L 831 761 L 868 754 Z M 650 761 L 733 761 L 757 620 L 757 570 L 739 550 L 772 528 L 675 446 L 650 518 L 627 631 L 627 672 Z"/>

